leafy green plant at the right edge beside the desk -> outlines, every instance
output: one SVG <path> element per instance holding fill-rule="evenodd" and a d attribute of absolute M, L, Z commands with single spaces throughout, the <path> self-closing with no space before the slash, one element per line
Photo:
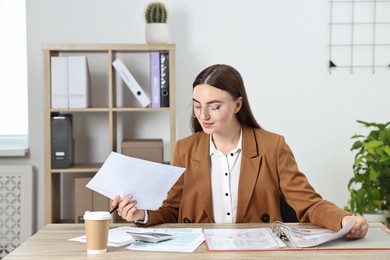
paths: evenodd
<path fill-rule="evenodd" d="M 356 151 L 356 155 L 345 209 L 360 215 L 381 212 L 390 222 L 390 122 L 357 122 L 369 132 L 351 137 L 355 140 L 351 151 Z"/>

